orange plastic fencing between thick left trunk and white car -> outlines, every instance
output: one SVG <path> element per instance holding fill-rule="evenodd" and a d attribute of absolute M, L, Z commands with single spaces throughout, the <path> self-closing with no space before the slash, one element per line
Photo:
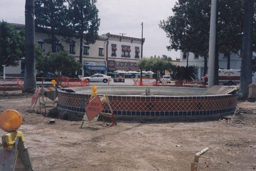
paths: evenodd
<path fill-rule="evenodd" d="M 68 78 L 68 77 L 57 77 L 54 78 L 57 85 L 66 88 L 66 87 L 86 87 L 90 86 L 88 80 L 80 80 L 78 78 Z"/>

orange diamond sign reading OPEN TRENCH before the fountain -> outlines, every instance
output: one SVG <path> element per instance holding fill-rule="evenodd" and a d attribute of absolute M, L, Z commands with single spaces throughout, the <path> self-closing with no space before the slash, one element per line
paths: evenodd
<path fill-rule="evenodd" d="M 89 120 L 92 120 L 103 110 L 99 96 L 95 96 L 93 100 L 86 106 L 86 114 Z"/>

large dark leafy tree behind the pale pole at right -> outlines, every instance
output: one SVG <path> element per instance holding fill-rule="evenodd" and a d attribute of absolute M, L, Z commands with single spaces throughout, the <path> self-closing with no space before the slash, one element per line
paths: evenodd
<path fill-rule="evenodd" d="M 216 72 L 215 83 L 218 82 L 218 54 L 222 52 L 238 52 L 238 36 L 241 33 L 242 0 L 218 1 L 217 38 L 216 38 Z M 174 16 L 160 22 L 170 39 L 168 50 L 193 52 L 205 59 L 204 73 L 207 69 L 209 47 L 210 0 L 179 0 L 173 8 Z M 217 80 L 217 81 L 216 81 Z"/>

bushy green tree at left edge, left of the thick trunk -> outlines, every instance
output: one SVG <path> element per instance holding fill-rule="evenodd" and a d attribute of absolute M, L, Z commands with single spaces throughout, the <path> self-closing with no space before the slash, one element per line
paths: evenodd
<path fill-rule="evenodd" d="M 23 40 L 9 23 L 0 22 L 0 68 L 2 65 L 16 65 L 24 57 Z"/>

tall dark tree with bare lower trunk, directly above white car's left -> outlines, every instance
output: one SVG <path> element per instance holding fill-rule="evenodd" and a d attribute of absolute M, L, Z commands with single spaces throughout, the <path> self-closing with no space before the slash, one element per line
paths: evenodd
<path fill-rule="evenodd" d="M 69 16 L 73 36 L 80 39 L 79 62 L 82 63 L 84 44 L 95 43 L 98 38 L 100 19 L 96 0 L 69 0 Z"/>

